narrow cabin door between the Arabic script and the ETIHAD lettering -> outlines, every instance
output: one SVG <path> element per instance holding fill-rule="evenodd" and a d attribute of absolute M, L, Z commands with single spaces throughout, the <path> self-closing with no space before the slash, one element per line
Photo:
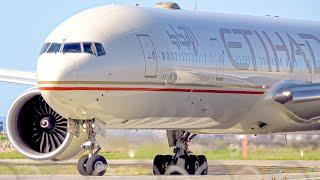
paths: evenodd
<path fill-rule="evenodd" d="M 213 48 L 212 58 L 216 67 L 216 81 L 223 81 L 224 79 L 224 50 L 217 38 L 210 38 Z"/>

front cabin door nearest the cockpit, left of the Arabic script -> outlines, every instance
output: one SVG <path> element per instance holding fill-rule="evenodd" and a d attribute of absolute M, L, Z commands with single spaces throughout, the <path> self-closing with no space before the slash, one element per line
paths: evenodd
<path fill-rule="evenodd" d="M 156 78 L 158 73 L 157 54 L 149 35 L 137 35 L 145 61 L 145 77 Z"/>

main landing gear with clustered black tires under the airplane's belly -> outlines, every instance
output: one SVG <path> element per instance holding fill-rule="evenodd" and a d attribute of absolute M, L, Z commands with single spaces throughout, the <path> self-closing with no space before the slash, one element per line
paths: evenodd
<path fill-rule="evenodd" d="M 170 147 L 174 155 L 157 155 L 153 161 L 155 175 L 207 175 L 208 163 L 204 155 L 193 155 L 189 142 L 196 136 L 187 131 L 168 130 Z"/>

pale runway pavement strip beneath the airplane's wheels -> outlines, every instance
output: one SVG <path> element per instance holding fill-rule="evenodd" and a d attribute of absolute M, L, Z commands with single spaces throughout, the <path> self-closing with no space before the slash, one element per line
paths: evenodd
<path fill-rule="evenodd" d="M 76 160 L 69 160 L 63 162 L 52 161 L 32 161 L 32 160 L 0 160 L 0 167 L 10 167 L 14 169 L 15 173 L 6 175 L 0 172 L 0 180 L 2 179 L 57 179 L 57 180 L 82 180 L 82 179 L 101 179 L 101 177 L 81 177 L 76 171 L 71 174 L 61 175 L 58 170 L 65 168 L 75 168 Z M 263 161 L 263 160 L 215 160 L 209 161 L 209 175 L 205 177 L 200 176 L 147 176 L 151 175 L 152 161 L 151 160 L 109 160 L 110 169 L 116 168 L 142 168 L 146 170 L 143 176 L 131 176 L 129 171 L 124 175 L 113 176 L 109 174 L 103 177 L 104 179 L 320 179 L 320 161 Z M 36 171 L 30 175 L 19 175 L 18 167 L 27 166 L 30 168 L 53 168 L 52 171 L 41 172 Z M 54 172 L 57 170 L 57 172 Z M 21 173 L 23 174 L 23 173 Z M 128 176 L 127 176 L 128 175 Z"/>

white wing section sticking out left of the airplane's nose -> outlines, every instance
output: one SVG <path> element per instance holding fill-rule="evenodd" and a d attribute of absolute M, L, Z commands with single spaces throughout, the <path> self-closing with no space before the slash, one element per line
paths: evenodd
<path fill-rule="evenodd" d="M 0 82 L 37 85 L 37 76 L 33 72 L 0 69 Z"/>

